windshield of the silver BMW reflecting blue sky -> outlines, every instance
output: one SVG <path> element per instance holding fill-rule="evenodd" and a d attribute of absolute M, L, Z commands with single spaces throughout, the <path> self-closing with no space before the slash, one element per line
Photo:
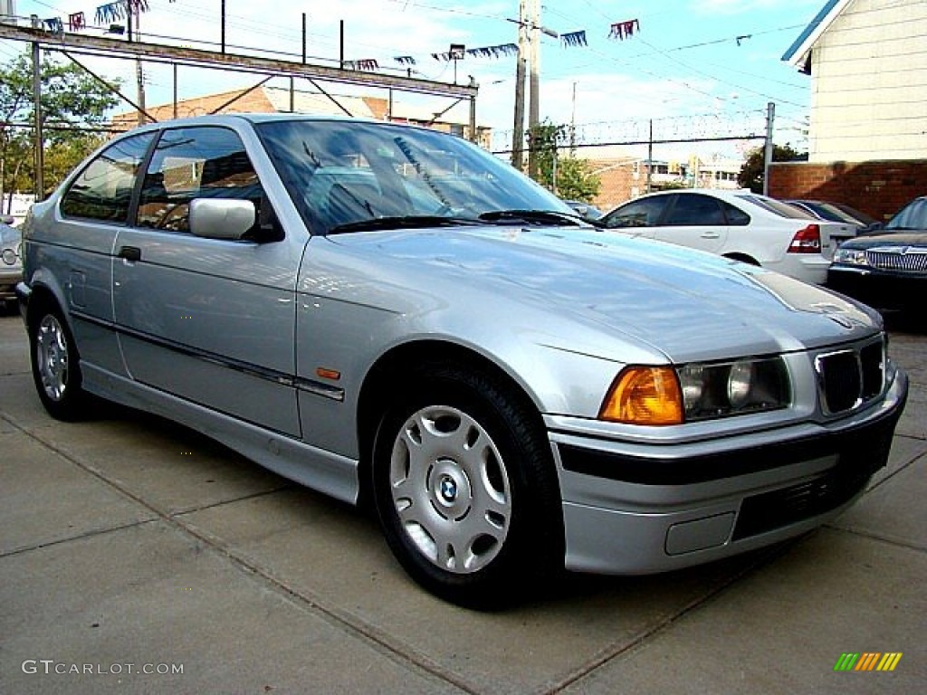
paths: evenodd
<path fill-rule="evenodd" d="M 356 120 L 256 127 L 313 234 L 366 229 L 358 223 L 380 219 L 399 225 L 414 217 L 466 223 L 502 210 L 576 214 L 508 163 L 446 133 Z"/>

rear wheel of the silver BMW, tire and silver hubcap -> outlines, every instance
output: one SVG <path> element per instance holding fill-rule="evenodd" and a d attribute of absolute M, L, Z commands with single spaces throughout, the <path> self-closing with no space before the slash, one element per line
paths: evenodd
<path fill-rule="evenodd" d="M 57 420 L 79 419 L 85 403 L 81 359 L 57 306 L 42 303 L 29 321 L 32 380 L 44 409 Z"/>

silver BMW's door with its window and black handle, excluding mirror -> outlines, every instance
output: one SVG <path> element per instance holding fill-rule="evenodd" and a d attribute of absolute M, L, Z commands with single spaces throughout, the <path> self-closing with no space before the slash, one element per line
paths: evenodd
<path fill-rule="evenodd" d="M 202 197 L 269 205 L 234 130 L 164 131 L 135 223 L 116 240 L 113 299 L 128 370 L 165 393 L 299 436 L 298 264 L 286 239 L 191 234 L 190 201 Z"/>

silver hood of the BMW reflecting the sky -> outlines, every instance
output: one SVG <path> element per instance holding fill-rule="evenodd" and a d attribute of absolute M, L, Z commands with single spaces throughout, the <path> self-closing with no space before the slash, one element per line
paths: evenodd
<path fill-rule="evenodd" d="M 392 287 L 431 297 L 428 306 L 462 321 L 476 311 L 510 328 L 554 324 L 547 334 L 559 336 L 557 347 L 604 358 L 616 356 L 616 337 L 687 361 L 819 347 L 881 329 L 874 311 L 817 286 L 614 232 L 460 227 L 328 238 L 371 264 L 353 264 L 356 280 L 394 276 Z"/>

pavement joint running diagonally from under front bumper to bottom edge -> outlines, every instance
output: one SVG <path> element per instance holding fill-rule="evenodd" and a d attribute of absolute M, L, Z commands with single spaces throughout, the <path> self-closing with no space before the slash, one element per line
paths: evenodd
<path fill-rule="evenodd" d="M 556 695 L 556 693 L 563 692 L 583 678 L 591 676 L 606 664 L 615 661 L 631 651 L 641 649 L 646 643 L 659 637 L 672 625 L 675 625 L 690 613 L 694 613 L 696 610 L 716 600 L 747 575 L 753 575 L 762 567 L 766 567 L 771 562 L 778 560 L 781 556 L 792 550 L 796 541 L 802 540 L 807 535 L 808 534 L 783 541 L 781 544 L 772 546 L 771 548 L 756 550 L 758 554 L 753 562 L 749 562 L 741 570 L 719 582 L 717 587 L 711 588 L 704 595 L 697 596 L 690 600 L 679 608 L 678 611 L 670 613 L 667 617 L 657 621 L 655 625 L 644 628 L 636 636 L 630 638 L 628 642 L 621 644 L 621 646 L 600 651 L 597 656 L 593 657 L 582 666 L 579 666 L 572 674 L 566 676 L 551 689 L 546 690 L 543 695 Z"/>

